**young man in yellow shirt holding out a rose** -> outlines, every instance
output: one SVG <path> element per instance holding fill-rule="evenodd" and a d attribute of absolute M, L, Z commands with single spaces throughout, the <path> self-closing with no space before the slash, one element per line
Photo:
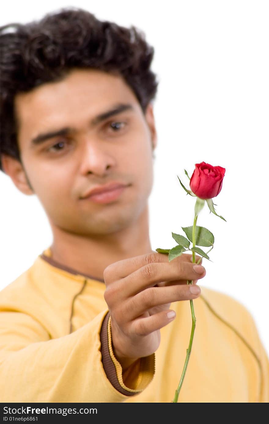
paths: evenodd
<path fill-rule="evenodd" d="M 1 402 L 170 402 L 190 299 L 179 402 L 268 402 L 249 312 L 201 294 L 191 255 L 169 263 L 150 245 L 153 48 L 81 9 L 6 25 L 1 44 L 1 169 L 37 195 L 53 232 L 0 293 Z"/>

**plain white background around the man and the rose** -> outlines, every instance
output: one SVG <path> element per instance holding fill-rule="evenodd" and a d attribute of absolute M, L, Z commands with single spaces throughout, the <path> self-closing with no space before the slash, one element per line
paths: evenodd
<path fill-rule="evenodd" d="M 226 168 L 221 193 L 197 225 L 215 236 L 201 287 L 227 293 L 268 338 L 268 140 L 269 3 L 267 1 L 137 1 L 73 4 L 8 1 L 0 25 L 28 22 L 63 6 L 78 6 L 100 20 L 135 25 L 155 48 L 152 69 L 159 89 L 154 103 L 158 147 L 150 195 L 152 248 L 176 245 L 171 232 L 193 225 L 195 198 L 185 195 L 194 164 Z M 25 196 L 0 173 L 0 289 L 29 268 L 52 241 L 38 199 Z M 206 249 L 207 250 L 207 249 Z"/>

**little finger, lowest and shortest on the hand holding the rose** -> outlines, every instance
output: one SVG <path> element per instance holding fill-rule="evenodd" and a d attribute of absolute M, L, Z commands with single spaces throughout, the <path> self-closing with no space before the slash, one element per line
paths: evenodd
<path fill-rule="evenodd" d="M 176 312 L 173 310 L 158 312 L 157 314 L 151 315 L 147 318 L 139 318 L 131 324 L 130 333 L 138 336 L 147 336 L 153 331 L 166 326 L 175 318 Z"/>

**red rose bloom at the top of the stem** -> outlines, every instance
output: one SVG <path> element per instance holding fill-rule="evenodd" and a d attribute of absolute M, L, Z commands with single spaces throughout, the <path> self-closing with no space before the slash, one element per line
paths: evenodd
<path fill-rule="evenodd" d="M 209 163 L 195 163 L 190 189 L 200 199 L 212 199 L 221 191 L 225 168 Z"/>

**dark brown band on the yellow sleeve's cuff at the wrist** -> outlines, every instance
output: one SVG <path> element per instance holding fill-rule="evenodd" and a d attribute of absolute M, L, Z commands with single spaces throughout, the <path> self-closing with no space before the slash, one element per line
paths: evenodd
<path fill-rule="evenodd" d="M 102 363 L 105 370 L 105 374 L 107 375 L 110 383 L 113 385 L 113 387 L 126 396 L 133 396 L 136 393 L 131 393 L 125 390 L 120 384 L 117 379 L 117 373 L 115 365 L 113 364 L 113 361 L 110 357 L 109 349 L 108 349 L 108 319 L 109 319 L 109 312 L 105 316 L 105 319 L 102 323 L 102 328 L 100 332 L 100 338 L 101 338 L 101 353 L 102 353 Z"/>

